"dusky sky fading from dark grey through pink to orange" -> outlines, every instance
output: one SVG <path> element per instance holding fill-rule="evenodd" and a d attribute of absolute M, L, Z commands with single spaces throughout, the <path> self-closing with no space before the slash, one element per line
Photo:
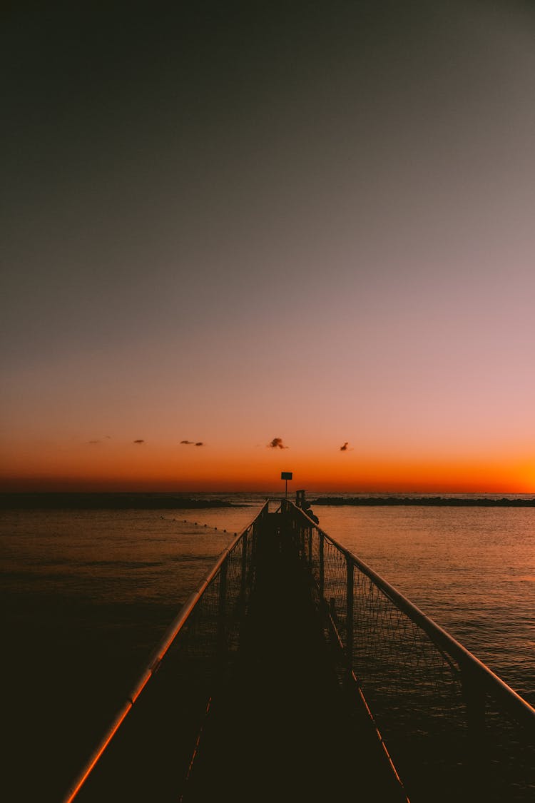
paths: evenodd
<path fill-rule="evenodd" d="M 533 6 L 0 14 L 0 489 L 535 492 Z"/>

